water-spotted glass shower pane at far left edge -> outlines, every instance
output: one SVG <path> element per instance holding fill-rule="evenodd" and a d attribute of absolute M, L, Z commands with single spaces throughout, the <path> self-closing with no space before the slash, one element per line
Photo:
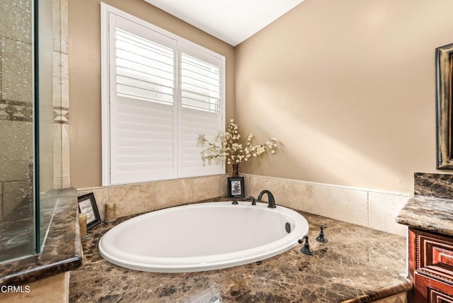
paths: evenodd
<path fill-rule="evenodd" d="M 0 5 L 0 261 L 35 253 L 33 1 Z"/>

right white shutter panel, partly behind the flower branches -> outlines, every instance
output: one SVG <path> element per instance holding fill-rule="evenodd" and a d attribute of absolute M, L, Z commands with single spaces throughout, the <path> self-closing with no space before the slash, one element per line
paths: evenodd
<path fill-rule="evenodd" d="M 222 60 L 189 45 L 184 45 L 180 60 L 180 176 L 219 173 L 224 163 L 220 159 L 205 164 L 200 161 L 200 147 L 193 138 L 203 134 L 214 142 L 219 130 L 224 129 L 220 104 Z"/>

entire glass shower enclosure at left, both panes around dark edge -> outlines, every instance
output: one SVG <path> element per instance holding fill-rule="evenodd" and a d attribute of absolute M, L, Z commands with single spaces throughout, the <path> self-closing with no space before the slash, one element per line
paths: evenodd
<path fill-rule="evenodd" d="M 62 188 L 61 3 L 0 4 L 0 263 L 40 253 Z"/>

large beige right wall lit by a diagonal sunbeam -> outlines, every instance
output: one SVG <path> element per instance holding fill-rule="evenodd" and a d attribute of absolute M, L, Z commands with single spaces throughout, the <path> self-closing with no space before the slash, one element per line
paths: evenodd
<path fill-rule="evenodd" d="M 276 156 L 243 173 L 413 191 L 435 172 L 435 47 L 453 1 L 306 0 L 236 47 L 236 120 Z M 259 164 L 259 166 L 258 166 Z"/>

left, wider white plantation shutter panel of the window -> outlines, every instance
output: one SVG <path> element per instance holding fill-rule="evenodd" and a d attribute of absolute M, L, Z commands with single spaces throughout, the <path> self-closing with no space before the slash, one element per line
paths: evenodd
<path fill-rule="evenodd" d="M 176 178 L 176 41 L 115 15 L 110 37 L 110 183 Z"/>

